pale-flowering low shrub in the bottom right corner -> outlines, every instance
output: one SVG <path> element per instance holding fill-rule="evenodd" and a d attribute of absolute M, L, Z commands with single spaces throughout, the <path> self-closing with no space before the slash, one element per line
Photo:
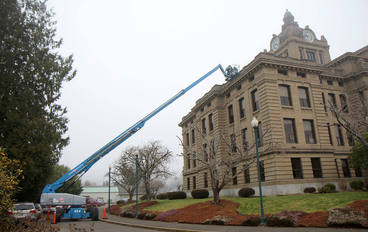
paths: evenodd
<path fill-rule="evenodd" d="M 350 207 L 332 208 L 328 214 L 327 224 L 329 226 L 367 226 L 367 218 L 361 210 Z"/>

